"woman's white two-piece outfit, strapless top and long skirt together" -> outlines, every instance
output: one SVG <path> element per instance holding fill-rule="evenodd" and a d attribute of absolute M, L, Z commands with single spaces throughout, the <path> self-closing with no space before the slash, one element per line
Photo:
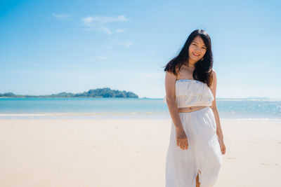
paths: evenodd
<path fill-rule="evenodd" d="M 193 79 L 176 81 L 178 108 L 211 106 L 214 96 L 206 83 Z M 166 96 L 164 97 L 166 102 Z M 195 187 L 199 174 L 200 187 L 214 186 L 223 155 L 216 136 L 216 120 L 210 107 L 179 113 L 188 137 L 188 149 L 176 145 L 176 129 L 171 121 L 171 137 L 166 154 L 166 187 Z"/>

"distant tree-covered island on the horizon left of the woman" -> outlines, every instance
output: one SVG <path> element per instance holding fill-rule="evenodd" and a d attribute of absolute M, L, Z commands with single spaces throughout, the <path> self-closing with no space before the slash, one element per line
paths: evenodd
<path fill-rule="evenodd" d="M 123 97 L 123 98 L 138 98 L 138 95 L 133 92 L 111 90 L 110 88 L 97 88 L 95 90 L 89 90 L 88 92 L 82 92 L 73 94 L 71 92 L 60 92 L 52 95 L 15 95 L 13 92 L 7 92 L 0 94 L 0 97 Z"/>

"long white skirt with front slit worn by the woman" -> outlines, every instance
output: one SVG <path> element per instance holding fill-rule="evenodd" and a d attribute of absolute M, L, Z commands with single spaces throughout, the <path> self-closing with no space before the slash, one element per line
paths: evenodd
<path fill-rule="evenodd" d="M 172 121 L 166 154 L 166 187 L 195 187 L 197 174 L 200 187 L 214 186 L 223 161 L 214 113 L 207 106 L 179 113 L 179 116 L 188 137 L 188 149 L 176 145 L 176 128 Z"/>

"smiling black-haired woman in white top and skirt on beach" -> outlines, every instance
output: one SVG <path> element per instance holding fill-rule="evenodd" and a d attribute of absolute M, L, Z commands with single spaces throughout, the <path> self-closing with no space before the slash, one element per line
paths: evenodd
<path fill-rule="evenodd" d="M 216 108 L 211 39 L 202 29 L 188 36 L 164 71 L 171 115 L 166 187 L 214 186 L 226 146 Z"/>

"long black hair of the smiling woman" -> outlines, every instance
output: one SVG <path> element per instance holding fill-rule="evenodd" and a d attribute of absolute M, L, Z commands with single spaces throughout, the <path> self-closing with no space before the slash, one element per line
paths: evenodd
<path fill-rule="evenodd" d="M 172 72 L 175 76 L 178 75 L 178 71 L 180 71 L 183 64 L 189 64 L 189 46 L 190 43 L 195 39 L 196 36 L 200 36 L 204 41 L 205 46 L 207 47 L 207 51 L 202 57 L 201 60 L 197 61 L 195 64 L 195 69 L 193 71 L 192 77 L 197 81 L 202 81 L 203 83 L 207 83 L 208 86 L 211 85 L 212 76 L 211 71 L 213 67 L 213 53 L 211 52 L 211 38 L 209 34 L 203 29 L 196 29 L 185 41 L 183 48 L 181 48 L 180 53 L 172 60 L 170 60 L 166 66 L 164 71 Z M 176 71 L 178 69 L 178 71 Z"/>

